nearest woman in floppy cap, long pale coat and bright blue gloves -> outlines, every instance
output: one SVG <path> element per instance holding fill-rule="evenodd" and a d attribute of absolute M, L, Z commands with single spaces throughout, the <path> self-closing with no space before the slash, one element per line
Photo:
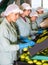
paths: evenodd
<path fill-rule="evenodd" d="M 14 23 L 20 12 L 16 4 L 10 4 L 3 12 L 4 20 L 0 24 L 0 65 L 13 65 L 13 61 L 17 59 L 17 50 L 32 46 L 32 43 L 16 44 Z"/>

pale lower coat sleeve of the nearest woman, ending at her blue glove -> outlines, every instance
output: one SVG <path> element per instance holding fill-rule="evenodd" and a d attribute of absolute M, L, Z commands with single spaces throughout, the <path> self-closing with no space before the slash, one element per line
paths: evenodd
<path fill-rule="evenodd" d="M 4 51 L 19 50 L 19 45 L 10 45 L 10 41 L 7 38 L 3 37 L 2 35 L 0 35 L 0 46 L 1 46 L 0 50 Z"/>

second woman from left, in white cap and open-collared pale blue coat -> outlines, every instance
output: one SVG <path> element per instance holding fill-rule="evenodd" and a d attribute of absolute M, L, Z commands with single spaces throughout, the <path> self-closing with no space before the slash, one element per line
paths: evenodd
<path fill-rule="evenodd" d="M 23 10 L 23 13 L 16 21 L 16 24 L 18 26 L 20 36 L 28 37 L 30 35 L 31 27 L 30 20 L 27 18 L 27 16 L 31 12 L 31 6 L 27 3 L 23 3 L 20 8 Z"/>

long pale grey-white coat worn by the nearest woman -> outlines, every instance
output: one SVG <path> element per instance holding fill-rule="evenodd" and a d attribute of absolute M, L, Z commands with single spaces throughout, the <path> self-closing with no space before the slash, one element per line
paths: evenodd
<path fill-rule="evenodd" d="M 13 65 L 19 46 L 11 43 L 16 42 L 16 30 L 5 18 L 0 24 L 0 65 Z"/>

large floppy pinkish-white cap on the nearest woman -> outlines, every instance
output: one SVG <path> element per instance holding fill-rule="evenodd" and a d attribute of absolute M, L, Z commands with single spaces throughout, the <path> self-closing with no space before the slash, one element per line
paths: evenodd
<path fill-rule="evenodd" d="M 19 7 L 13 3 L 10 4 L 4 12 L 1 13 L 1 16 L 8 16 L 10 13 L 22 13 L 23 11 L 19 9 Z"/>

